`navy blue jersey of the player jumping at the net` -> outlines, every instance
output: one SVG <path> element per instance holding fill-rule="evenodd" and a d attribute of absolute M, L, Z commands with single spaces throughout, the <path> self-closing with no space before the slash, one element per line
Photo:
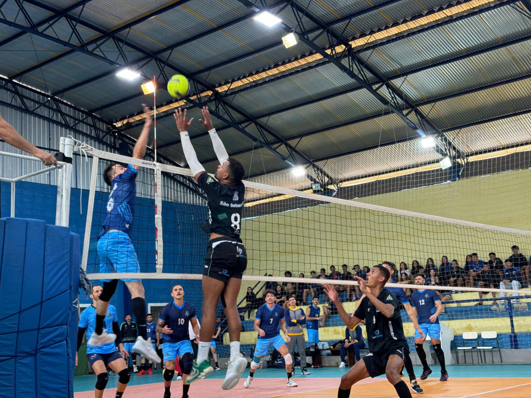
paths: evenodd
<path fill-rule="evenodd" d="M 102 225 L 98 238 L 107 229 L 117 229 L 130 233 L 134 217 L 134 201 L 136 196 L 135 179 L 138 171 L 129 165 L 122 174 L 114 177 L 112 191 L 107 201 L 107 217 Z"/>

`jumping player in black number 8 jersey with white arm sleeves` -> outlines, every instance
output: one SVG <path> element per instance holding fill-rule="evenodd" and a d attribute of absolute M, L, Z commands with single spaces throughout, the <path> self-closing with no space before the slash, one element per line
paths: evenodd
<path fill-rule="evenodd" d="M 238 384 L 247 367 L 247 360 L 239 352 L 242 322 L 236 307 L 243 272 L 247 267 L 247 253 L 239 238 L 245 195 L 245 186 L 242 183 L 245 169 L 238 160 L 229 158 L 216 129 L 212 126 L 208 107 L 203 107 L 202 113 L 204 120 L 200 119 L 200 122 L 208 130 L 220 163 L 215 179 L 209 176 L 199 163 L 190 141 L 188 129 L 193 118 L 187 121 L 186 109 L 182 111 L 180 108 L 174 115 L 177 128 L 181 132 L 186 162 L 199 186 L 207 194 L 208 220 L 201 227 L 210 234 L 203 269 L 203 315 L 198 356 L 194 363 L 196 371 L 190 375 L 188 382 L 192 383 L 213 371 L 207 359 L 210 339 L 216 332 L 216 309 L 221 298 L 230 337 L 230 359 L 221 388 L 230 390 Z"/>

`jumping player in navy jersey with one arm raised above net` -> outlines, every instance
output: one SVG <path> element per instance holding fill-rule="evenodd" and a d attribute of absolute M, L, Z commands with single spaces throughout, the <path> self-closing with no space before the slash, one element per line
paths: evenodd
<path fill-rule="evenodd" d="M 133 158 L 143 159 L 151 128 L 151 111 L 142 104 L 145 112 L 145 123 L 142 132 L 133 149 Z M 140 265 L 136 252 L 129 237 L 134 222 L 134 203 L 136 196 L 135 179 L 140 166 L 124 167 L 113 163 L 104 171 L 104 180 L 111 187 L 107 202 L 107 217 L 98 235 L 98 256 L 100 272 L 140 272 Z M 131 293 L 131 307 L 138 325 L 138 338 L 133 350 L 151 361 L 160 363 L 160 358 L 153 350 L 151 341 L 147 339 L 145 327 L 145 293 L 140 279 L 123 279 Z M 118 284 L 117 279 L 104 280 L 103 293 L 98 300 L 96 314 L 96 330 L 87 344 L 97 347 L 99 344 L 113 342 L 116 336 L 107 333 L 104 328 L 104 318 L 107 313 L 109 300 L 113 297 Z"/>

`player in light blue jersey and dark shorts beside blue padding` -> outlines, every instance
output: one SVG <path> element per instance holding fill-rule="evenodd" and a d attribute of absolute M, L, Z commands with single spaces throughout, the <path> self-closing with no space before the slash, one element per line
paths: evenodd
<path fill-rule="evenodd" d="M 77 351 L 79 351 L 79 348 L 81 347 L 85 331 L 87 331 L 87 336 L 90 336 L 94 332 L 94 325 L 96 324 L 96 306 L 102 291 L 103 288 L 100 285 L 95 284 L 92 286 L 92 292 L 90 295 L 92 304 L 81 313 L 78 325 L 78 349 L 75 354 L 76 366 L 78 366 Z M 118 374 L 119 378 L 116 397 L 119 398 L 123 395 L 125 387 L 127 387 L 127 383 L 129 383 L 131 373 L 129 368 L 127 368 L 127 363 L 121 355 L 124 354 L 125 359 L 129 358 L 129 353 L 127 353 L 124 344 L 122 343 L 116 308 L 112 305 L 109 305 L 107 308 L 105 326 L 108 330 L 112 330 L 116 333 L 116 340 L 110 343 L 100 344 L 98 347 L 87 345 L 87 359 L 97 377 L 94 389 L 95 398 L 101 398 L 103 396 L 103 391 L 105 390 L 109 378 L 107 367 Z M 119 349 L 119 352 L 116 351 L 116 348 Z"/>

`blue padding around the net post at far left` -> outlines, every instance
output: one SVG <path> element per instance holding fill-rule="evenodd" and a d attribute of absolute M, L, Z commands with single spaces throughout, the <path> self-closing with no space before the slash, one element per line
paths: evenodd
<path fill-rule="evenodd" d="M 79 244 L 65 227 L 0 219 L 0 398 L 73 398 Z"/>

